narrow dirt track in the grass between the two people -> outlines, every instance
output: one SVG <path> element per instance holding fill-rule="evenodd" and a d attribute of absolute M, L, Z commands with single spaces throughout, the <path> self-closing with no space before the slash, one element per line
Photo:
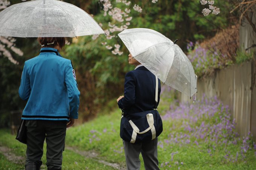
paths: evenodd
<path fill-rule="evenodd" d="M 98 159 L 99 153 L 97 153 L 95 151 L 83 151 L 83 150 L 79 150 L 75 147 L 70 147 L 70 146 L 65 146 L 65 149 L 72 150 L 72 151 L 78 153 L 81 156 L 85 156 L 86 158 L 95 158 L 96 161 L 98 161 L 98 162 L 100 162 L 104 165 L 108 165 L 108 166 L 111 166 L 113 168 L 116 168 L 118 170 L 126 170 L 125 165 L 120 165 L 120 164 L 117 164 L 117 163 L 110 163 L 110 162 L 107 162 L 107 161 L 104 161 L 104 160 L 99 160 Z"/>

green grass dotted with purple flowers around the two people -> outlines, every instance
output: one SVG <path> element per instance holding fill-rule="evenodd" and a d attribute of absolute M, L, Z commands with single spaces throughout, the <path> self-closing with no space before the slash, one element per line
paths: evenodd
<path fill-rule="evenodd" d="M 256 170 L 256 144 L 250 134 L 239 137 L 227 106 L 215 98 L 198 100 L 191 105 L 177 104 L 165 93 L 161 95 L 158 107 L 164 128 L 158 137 L 161 170 Z M 97 160 L 125 165 L 119 137 L 120 117 L 121 111 L 116 109 L 67 129 L 67 146 L 95 152 L 98 156 L 81 156 L 75 150 L 66 149 L 62 170 L 115 169 Z M 16 141 L 9 130 L 2 129 L 0 134 L 0 146 L 11 148 L 15 155 L 25 155 L 25 145 Z M 4 170 L 23 168 L 23 165 L 8 161 L 2 154 L 0 158 L 0 167 Z M 45 150 L 42 161 L 45 164 Z M 141 169 L 144 169 L 143 161 Z"/>

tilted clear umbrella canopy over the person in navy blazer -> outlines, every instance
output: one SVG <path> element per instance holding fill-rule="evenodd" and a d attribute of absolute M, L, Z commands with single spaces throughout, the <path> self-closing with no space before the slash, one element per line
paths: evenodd
<path fill-rule="evenodd" d="M 151 29 L 126 29 L 118 34 L 133 57 L 165 84 L 188 95 L 197 92 L 197 75 L 181 48 Z"/>

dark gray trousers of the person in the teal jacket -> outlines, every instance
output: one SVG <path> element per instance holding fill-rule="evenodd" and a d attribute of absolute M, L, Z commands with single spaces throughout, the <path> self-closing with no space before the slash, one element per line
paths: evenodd
<path fill-rule="evenodd" d="M 26 164 L 42 164 L 44 140 L 46 139 L 46 165 L 61 169 L 62 151 L 65 146 L 67 121 L 26 120 L 27 150 Z"/>

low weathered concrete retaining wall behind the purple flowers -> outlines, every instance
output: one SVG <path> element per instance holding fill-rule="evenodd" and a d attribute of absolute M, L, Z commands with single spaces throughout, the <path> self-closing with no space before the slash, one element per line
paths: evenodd
<path fill-rule="evenodd" d="M 229 105 L 236 128 L 240 135 L 250 131 L 251 124 L 251 62 L 230 66 L 215 72 L 215 75 L 198 80 L 197 99 L 217 96 L 224 105 Z M 179 93 L 181 102 L 192 102 L 188 96 Z"/>

